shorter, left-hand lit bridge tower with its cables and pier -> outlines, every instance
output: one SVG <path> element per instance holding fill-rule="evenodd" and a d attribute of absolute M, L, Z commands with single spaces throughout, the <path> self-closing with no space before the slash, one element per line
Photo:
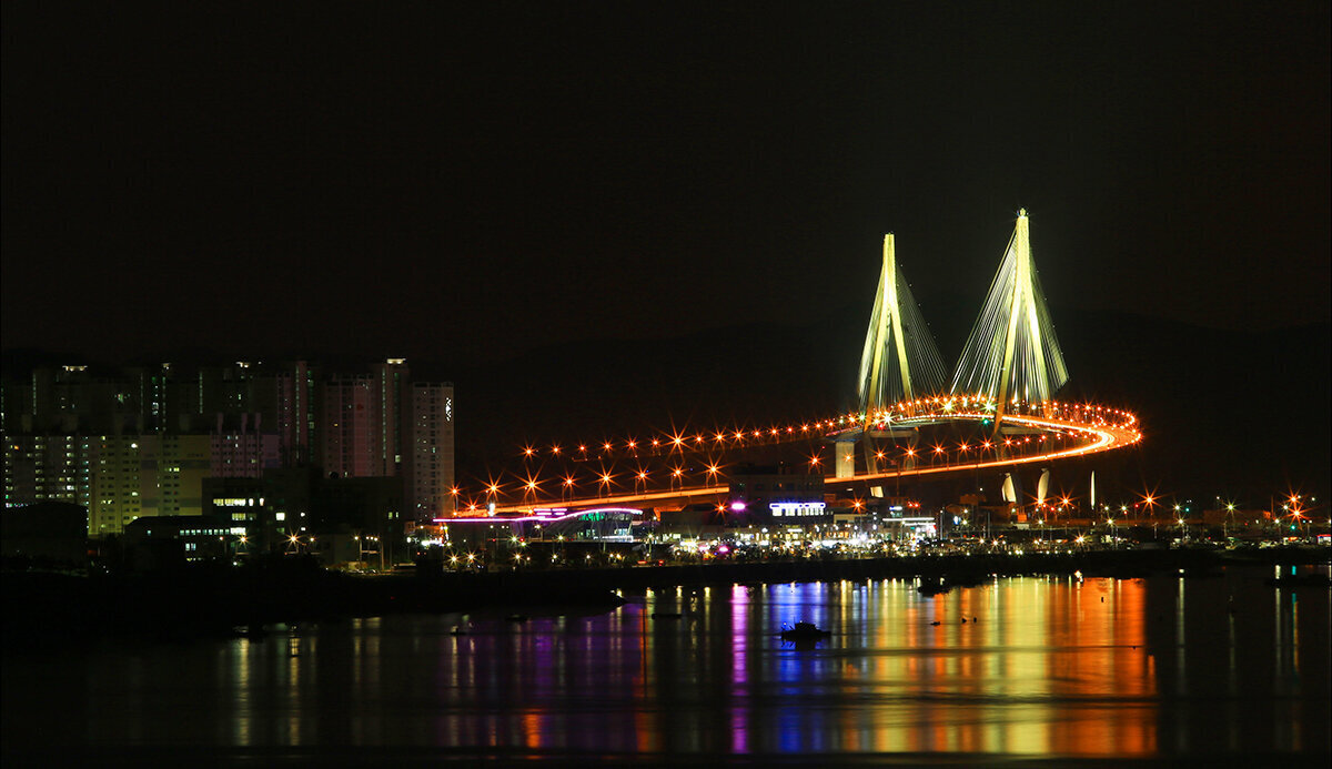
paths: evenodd
<path fill-rule="evenodd" d="M 883 235 L 883 267 L 860 355 L 860 418 L 867 467 L 874 467 L 875 462 L 872 438 L 896 436 L 886 423 L 887 410 L 902 400 L 942 391 L 946 377 L 939 349 L 898 266 L 896 238 L 888 233 Z M 871 431 L 874 424 L 884 424 L 884 428 Z M 903 435 L 915 438 L 915 431 Z M 838 450 L 839 476 L 854 471 L 848 459 L 852 452 L 844 448 Z"/>

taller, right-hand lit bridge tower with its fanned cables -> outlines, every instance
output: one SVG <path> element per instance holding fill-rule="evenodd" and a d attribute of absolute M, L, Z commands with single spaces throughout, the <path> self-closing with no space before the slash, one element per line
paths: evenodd
<path fill-rule="evenodd" d="M 1068 369 L 1036 277 L 1027 210 L 1022 209 L 984 307 L 958 361 L 952 391 L 994 398 L 998 430 L 1004 410 L 1012 403 L 1048 400 L 1066 382 Z"/>

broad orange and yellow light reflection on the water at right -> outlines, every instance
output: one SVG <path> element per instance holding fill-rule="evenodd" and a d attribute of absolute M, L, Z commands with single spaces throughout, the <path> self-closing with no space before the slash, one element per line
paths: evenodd
<path fill-rule="evenodd" d="M 827 597 L 847 632 L 832 680 L 802 681 L 790 660 L 767 675 L 854 694 L 830 708 L 839 750 L 1156 752 L 1142 583 L 1027 577 L 922 597 L 884 580 Z"/>

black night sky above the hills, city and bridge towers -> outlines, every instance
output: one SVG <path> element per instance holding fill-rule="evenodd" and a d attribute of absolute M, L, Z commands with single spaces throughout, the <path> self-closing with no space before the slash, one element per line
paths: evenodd
<path fill-rule="evenodd" d="M 3 4 L 5 347 L 979 309 L 1019 206 L 1056 309 L 1328 319 L 1327 3 L 277 5 Z"/>

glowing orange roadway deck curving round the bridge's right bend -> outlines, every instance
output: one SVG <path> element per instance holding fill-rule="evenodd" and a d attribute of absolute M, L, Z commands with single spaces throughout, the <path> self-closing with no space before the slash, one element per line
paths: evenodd
<path fill-rule="evenodd" d="M 955 415 L 940 416 L 939 414 L 922 415 L 918 418 L 902 419 L 894 423 L 894 426 L 912 426 L 912 424 L 938 424 L 940 422 L 979 422 L 982 419 L 992 418 L 991 414 L 986 412 L 959 412 Z M 950 463 L 943 466 L 928 466 L 928 467 L 911 467 L 911 468 L 894 468 L 883 472 L 866 472 L 859 475 L 851 475 L 847 478 L 829 478 L 826 480 L 827 486 L 838 486 L 840 483 L 872 483 L 875 480 L 895 480 L 899 478 L 916 478 L 924 475 L 943 475 L 948 472 L 963 472 L 975 471 L 986 468 L 1000 468 L 1000 467 L 1014 467 L 1019 464 L 1034 464 L 1039 462 L 1054 462 L 1058 459 L 1070 459 L 1074 456 L 1084 456 L 1088 454 L 1096 454 L 1100 451 L 1110 451 L 1112 448 L 1123 448 L 1131 446 L 1143 439 L 1143 434 L 1138 430 L 1136 420 L 1130 419 L 1123 424 L 1088 424 L 1086 422 L 1071 420 L 1071 419 L 1056 419 L 1052 416 L 1028 416 L 1028 415 L 1004 415 L 1003 422 L 1006 424 L 1018 424 L 1031 430 L 1038 430 L 1043 432 L 1058 432 L 1058 434 L 1079 434 L 1090 438 L 1090 443 L 1079 442 L 1078 446 L 1059 448 L 1052 451 L 1042 451 L 1030 455 L 1020 456 L 1004 456 L 978 462 L 967 463 Z M 846 432 L 846 431 L 843 431 Z M 830 434 L 832 438 L 836 434 Z M 605 496 L 594 498 L 570 498 L 563 500 L 545 499 L 525 502 L 522 504 L 509 504 L 509 506 L 496 506 L 497 515 L 527 515 L 537 508 L 594 508 L 594 507 L 625 507 L 631 504 L 647 503 L 691 503 L 698 502 L 699 498 L 713 498 L 725 496 L 727 494 L 727 486 L 725 484 L 710 484 L 710 486 L 691 486 L 683 488 L 673 488 L 667 491 L 643 491 L 633 494 L 610 494 Z"/>

